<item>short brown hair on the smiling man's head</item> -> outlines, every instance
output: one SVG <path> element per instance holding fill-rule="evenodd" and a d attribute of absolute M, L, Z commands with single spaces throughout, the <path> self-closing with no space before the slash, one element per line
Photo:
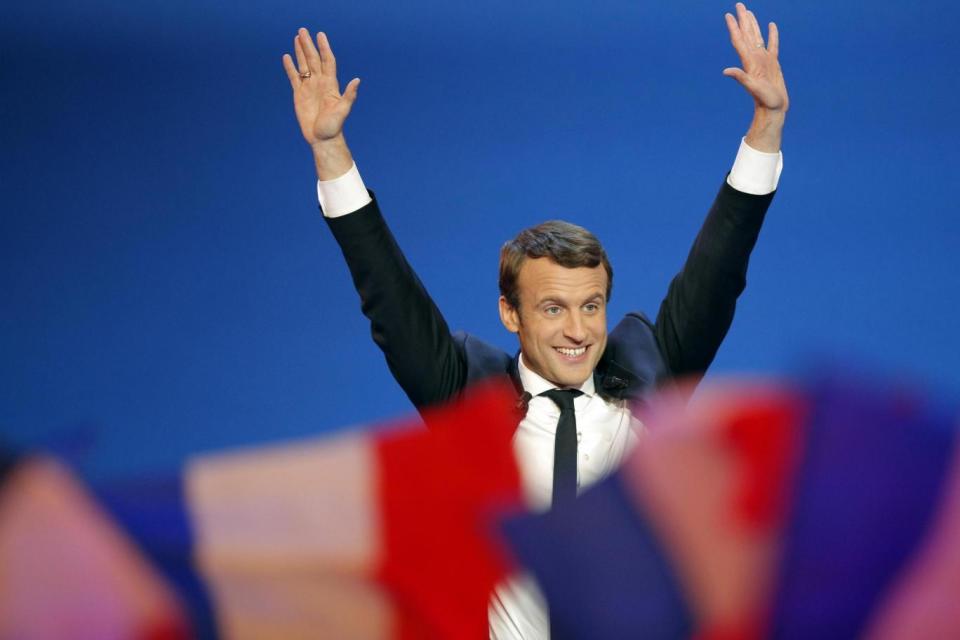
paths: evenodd
<path fill-rule="evenodd" d="M 561 267 L 576 269 L 603 265 L 607 272 L 607 300 L 613 289 L 613 267 L 597 237 L 581 226 L 563 220 L 548 220 L 529 227 L 500 249 L 500 295 L 514 309 L 520 308 L 517 279 L 527 258 L 550 258 Z"/>

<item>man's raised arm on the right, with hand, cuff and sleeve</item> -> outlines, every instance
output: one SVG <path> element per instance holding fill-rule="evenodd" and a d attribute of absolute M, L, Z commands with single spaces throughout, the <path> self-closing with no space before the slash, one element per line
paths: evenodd
<path fill-rule="evenodd" d="M 723 73 L 743 85 L 754 101 L 753 122 L 744 139 L 749 149 L 741 153 L 778 154 L 790 101 L 777 60 L 777 26 L 770 23 L 764 46 L 753 13 L 742 3 L 737 3 L 736 10 L 737 17 L 728 13 L 726 21 L 742 68 L 727 68 Z M 776 162 L 777 157 L 768 155 L 762 161 Z M 741 165 L 739 157 L 736 164 Z M 742 175 L 736 178 L 731 172 L 721 186 L 683 269 L 670 283 L 660 305 L 654 330 L 667 374 L 672 377 L 700 376 L 706 371 L 733 321 L 737 298 L 746 287 L 750 253 L 774 187 L 746 193 L 739 185 L 764 181 L 744 179 Z"/>

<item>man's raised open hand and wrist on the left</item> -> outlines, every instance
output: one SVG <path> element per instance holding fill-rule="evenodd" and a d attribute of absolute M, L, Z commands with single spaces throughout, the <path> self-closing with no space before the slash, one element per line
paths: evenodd
<path fill-rule="evenodd" d="M 318 50 L 319 48 L 319 50 Z M 283 68 L 293 88 L 293 107 L 300 131 L 313 150 L 320 180 L 332 180 L 353 166 L 353 158 L 343 137 L 343 123 L 357 99 L 360 79 L 354 78 L 340 93 L 337 61 L 323 32 L 314 46 L 310 33 L 301 28 L 293 39 L 297 56 L 283 56 Z"/>

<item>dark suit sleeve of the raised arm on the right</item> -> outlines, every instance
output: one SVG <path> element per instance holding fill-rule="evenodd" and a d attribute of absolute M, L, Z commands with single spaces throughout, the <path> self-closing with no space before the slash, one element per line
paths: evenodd
<path fill-rule="evenodd" d="M 654 332 L 667 375 L 700 376 L 713 362 L 747 284 L 747 265 L 773 193 L 756 196 L 724 181 L 660 305 Z"/>

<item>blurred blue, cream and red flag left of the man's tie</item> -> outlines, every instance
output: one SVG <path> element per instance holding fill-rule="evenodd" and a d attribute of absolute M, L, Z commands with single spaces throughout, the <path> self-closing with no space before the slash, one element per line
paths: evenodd
<path fill-rule="evenodd" d="M 514 405 L 481 387 L 427 429 L 203 456 L 176 483 L 100 496 L 189 594 L 200 636 L 479 638 L 510 569 L 494 517 L 520 502 Z"/>

